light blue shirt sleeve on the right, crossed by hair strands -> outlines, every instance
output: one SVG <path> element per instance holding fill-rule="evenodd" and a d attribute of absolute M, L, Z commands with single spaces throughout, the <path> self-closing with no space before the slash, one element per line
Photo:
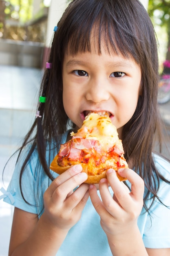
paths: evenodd
<path fill-rule="evenodd" d="M 170 164 L 161 157 L 155 157 L 155 164 L 161 174 L 170 180 Z M 147 248 L 170 248 L 170 185 L 161 181 L 158 196 L 147 215 L 143 241 Z M 148 205 L 150 204 L 148 200 Z"/>

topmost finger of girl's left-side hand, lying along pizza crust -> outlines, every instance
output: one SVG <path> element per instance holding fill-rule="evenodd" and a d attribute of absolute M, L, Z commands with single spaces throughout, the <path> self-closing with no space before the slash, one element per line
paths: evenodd
<path fill-rule="evenodd" d="M 81 172 L 82 172 L 82 166 L 77 164 L 77 165 L 74 165 L 71 168 L 69 168 L 64 173 L 60 174 L 55 180 L 53 180 L 53 182 L 51 183 L 51 185 L 48 188 L 50 196 L 53 195 L 53 192 L 55 191 L 55 189 L 58 186 L 60 186 L 62 183 L 69 180 L 74 175 L 81 173 Z"/>

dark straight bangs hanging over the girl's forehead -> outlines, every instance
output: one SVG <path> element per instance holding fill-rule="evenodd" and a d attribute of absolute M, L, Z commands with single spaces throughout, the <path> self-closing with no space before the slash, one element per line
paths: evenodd
<path fill-rule="evenodd" d="M 80 6 L 81 0 L 77 0 L 78 2 Z M 82 1 L 81 9 L 76 9 L 76 1 L 73 1 L 74 10 L 70 11 L 67 17 L 68 23 L 65 23 L 66 36 L 63 50 L 75 55 L 78 52 L 91 52 L 95 45 L 98 54 L 101 54 L 101 49 L 104 47 L 109 54 L 121 54 L 139 63 L 137 49 L 141 47 L 138 45 L 140 40 L 134 27 L 136 21 L 132 22 L 131 15 L 125 12 L 126 7 L 120 9 L 113 6 L 116 2 L 110 1 L 112 4 L 110 7 L 109 1 L 87 0 Z M 115 10 L 110 11 L 110 8 Z"/>

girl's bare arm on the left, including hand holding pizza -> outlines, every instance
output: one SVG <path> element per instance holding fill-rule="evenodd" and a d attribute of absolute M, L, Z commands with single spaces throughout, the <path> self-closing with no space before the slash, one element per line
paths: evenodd
<path fill-rule="evenodd" d="M 44 213 L 39 220 L 37 215 L 15 208 L 9 256 L 57 253 L 88 200 L 88 185 L 82 184 L 87 175 L 81 171 L 81 166 L 73 166 L 51 183 L 44 193 Z"/>

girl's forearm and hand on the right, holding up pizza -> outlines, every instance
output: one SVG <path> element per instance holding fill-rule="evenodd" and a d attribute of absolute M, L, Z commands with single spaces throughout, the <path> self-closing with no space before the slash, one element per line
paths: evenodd
<path fill-rule="evenodd" d="M 137 218 L 143 207 L 144 181 L 134 171 L 121 169 L 119 174 L 132 184 L 131 192 L 119 181 L 114 170 L 107 171 L 107 180 L 102 179 L 99 190 L 102 201 L 97 195 L 95 186 L 90 186 L 92 203 L 101 218 L 110 249 L 114 256 L 147 256 Z M 110 195 L 108 184 L 114 192 Z"/>

